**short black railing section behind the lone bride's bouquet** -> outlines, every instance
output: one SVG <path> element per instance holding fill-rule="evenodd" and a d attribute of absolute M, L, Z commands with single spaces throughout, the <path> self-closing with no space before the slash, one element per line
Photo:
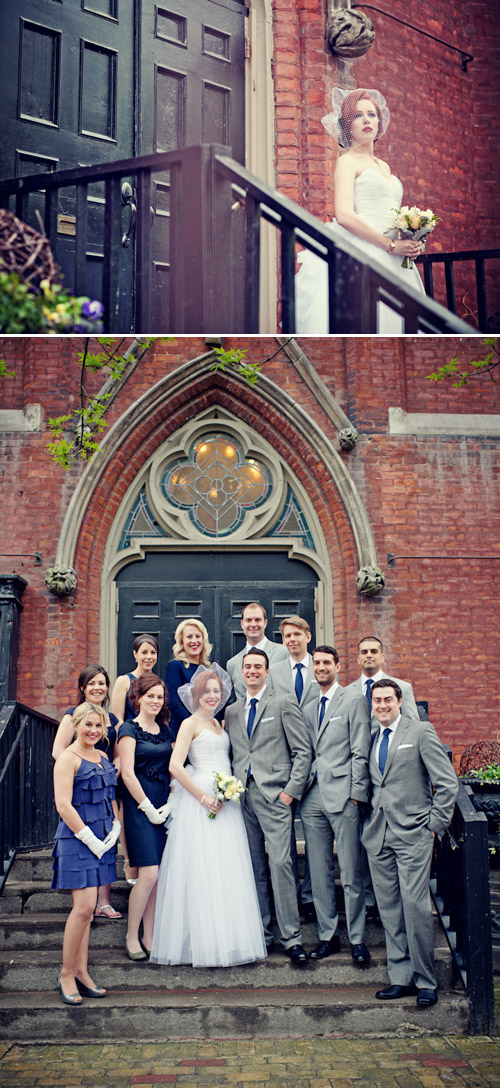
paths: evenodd
<path fill-rule="evenodd" d="M 447 307 L 452 313 L 457 313 L 454 265 L 463 264 L 465 262 L 470 264 L 473 263 L 476 288 L 475 313 L 477 327 L 479 332 L 495 333 L 497 327 L 490 327 L 490 322 L 493 316 L 489 313 L 488 310 L 486 261 L 500 262 L 500 249 L 465 249 L 449 254 L 424 254 L 422 257 L 418 257 L 418 264 L 422 264 L 424 269 L 425 289 L 430 298 L 435 297 L 434 269 L 439 265 L 443 267 Z M 491 264 L 489 267 L 491 268 Z M 497 267 L 496 281 L 498 285 L 500 282 L 500 263 Z M 474 309 L 474 302 L 472 302 L 470 309 L 471 311 Z M 498 326 L 498 314 L 495 318 L 495 324 Z"/>

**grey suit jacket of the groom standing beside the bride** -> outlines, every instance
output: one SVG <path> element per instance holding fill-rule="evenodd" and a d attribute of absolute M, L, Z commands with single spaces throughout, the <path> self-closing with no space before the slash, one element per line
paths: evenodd
<path fill-rule="evenodd" d="M 282 790 L 300 800 L 309 777 L 312 749 L 295 698 L 266 688 L 258 704 L 251 737 L 245 724 L 245 700 L 238 698 L 226 709 L 225 726 L 233 747 L 233 771 L 243 786 L 251 766 L 266 801 L 276 801 Z"/>

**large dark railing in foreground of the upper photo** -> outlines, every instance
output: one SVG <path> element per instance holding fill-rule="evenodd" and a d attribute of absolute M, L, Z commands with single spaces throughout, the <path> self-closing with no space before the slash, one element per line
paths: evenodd
<path fill-rule="evenodd" d="M 60 196 L 72 190 L 73 213 L 66 220 L 71 220 L 73 237 L 63 238 L 63 243 L 66 255 L 68 251 L 72 255 L 72 287 L 77 295 L 86 293 L 89 227 L 93 233 L 97 230 L 93 219 L 89 222 L 89 207 L 93 207 L 96 198 L 91 194 L 100 183 L 101 301 L 108 332 L 125 331 L 120 327 L 120 293 L 123 294 L 122 268 L 128 247 L 123 248 L 121 215 L 123 193 L 129 194 L 130 186 L 135 196 L 133 329 L 137 333 L 167 331 L 154 327 L 158 319 L 152 318 L 151 310 L 153 175 L 157 181 L 164 175 L 170 197 L 165 217 L 165 234 L 166 224 L 170 225 L 170 331 L 259 332 L 263 221 L 272 224 L 279 242 L 283 333 L 296 332 L 297 244 L 311 249 L 327 265 L 332 333 L 376 332 L 379 302 L 399 314 L 401 331 L 405 333 L 475 331 L 440 304 L 405 287 L 383 265 L 373 264 L 354 245 L 335 242 L 317 219 L 229 158 L 227 148 L 200 146 L 0 182 L 0 205 L 11 208 L 22 220 L 29 214 L 30 195 L 36 194 L 45 231 L 58 260 L 63 230 Z"/>

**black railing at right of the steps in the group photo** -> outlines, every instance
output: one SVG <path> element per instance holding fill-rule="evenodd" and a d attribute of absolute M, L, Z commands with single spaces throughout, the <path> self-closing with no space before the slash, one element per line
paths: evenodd
<path fill-rule="evenodd" d="M 488 823 L 462 783 L 448 831 L 436 844 L 433 899 L 470 1004 L 470 1031 L 495 1027 Z"/>

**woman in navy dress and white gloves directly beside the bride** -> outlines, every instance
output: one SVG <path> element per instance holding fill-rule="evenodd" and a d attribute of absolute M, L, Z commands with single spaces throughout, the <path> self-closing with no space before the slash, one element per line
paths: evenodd
<path fill-rule="evenodd" d="M 134 681 L 130 692 L 136 715 L 124 721 L 118 749 L 124 783 L 123 818 L 130 865 L 138 878 L 128 900 L 125 949 L 129 960 L 147 960 L 153 937 L 157 882 L 165 848 L 166 801 L 172 732 L 163 680 L 148 673 Z M 139 926 L 142 922 L 142 940 Z"/>

